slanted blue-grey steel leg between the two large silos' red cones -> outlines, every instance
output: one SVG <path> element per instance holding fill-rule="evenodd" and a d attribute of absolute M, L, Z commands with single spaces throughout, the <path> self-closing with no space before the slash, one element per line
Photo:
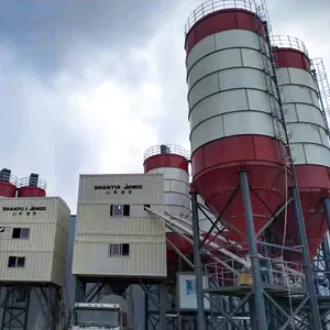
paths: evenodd
<path fill-rule="evenodd" d="M 309 295 L 309 305 L 311 309 L 311 329 L 322 329 L 321 317 L 319 312 L 318 298 L 316 293 L 316 287 L 314 283 L 311 263 L 308 252 L 308 241 L 306 235 L 306 229 L 304 223 L 304 216 L 300 202 L 300 196 L 297 188 L 292 188 L 295 212 L 296 212 L 296 223 L 298 228 L 298 234 L 302 249 L 302 267 L 306 277 L 306 286 Z"/>

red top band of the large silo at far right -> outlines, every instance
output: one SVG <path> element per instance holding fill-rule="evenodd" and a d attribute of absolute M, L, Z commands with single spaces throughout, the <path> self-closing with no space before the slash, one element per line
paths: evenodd
<path fill-rule="evenodd" d="M 282 47 L 275 47 L 273 52 L 278 67 L 295 67 L 310 72 L 310 61 L 304 52 Z"/>

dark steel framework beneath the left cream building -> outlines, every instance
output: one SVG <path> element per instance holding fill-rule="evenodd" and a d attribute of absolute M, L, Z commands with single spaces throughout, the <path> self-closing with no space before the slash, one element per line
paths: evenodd
<path fill-rule="evenodd" d="M 0 284 L 1 330 L 55 330 L 62 318 L 58 286 L 26 283 Z"/>

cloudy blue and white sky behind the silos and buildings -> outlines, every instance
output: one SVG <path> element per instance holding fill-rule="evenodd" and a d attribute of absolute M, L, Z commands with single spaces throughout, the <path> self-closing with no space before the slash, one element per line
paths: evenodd
<path fill-rule="evenodd" d="M 75 211 L 79 173 L 141 172 L 189 147 L 184 25 L 197 0 L 0 0 L 2 166 L 40 173 Z M 330 2 L 267 0 L 274 34 L 330 76 Z"/>

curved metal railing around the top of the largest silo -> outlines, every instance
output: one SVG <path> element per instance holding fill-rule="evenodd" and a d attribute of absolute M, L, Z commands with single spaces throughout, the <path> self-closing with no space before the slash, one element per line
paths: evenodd
<path fill-rule="evenodd" d="M 255 12 L 258 7 L 256 0 L 208 0 L 197 7 L 188 16 L 185 25 L 185 34 L 189 32 L 191 26 L 204 16 L 223 9 L 244 9 Z"/>

